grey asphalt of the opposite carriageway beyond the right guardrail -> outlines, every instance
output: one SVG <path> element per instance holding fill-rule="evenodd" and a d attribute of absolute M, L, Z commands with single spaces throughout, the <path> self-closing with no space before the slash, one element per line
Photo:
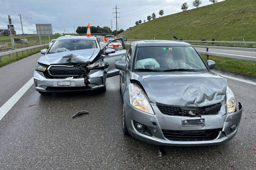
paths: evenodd
<path fill-rule="evenodd" d="M 130 44 L 130 42 L 126 42 L 125 44 Z M 197 51 L 206 51 L 206 48 L 195 48 Z M 233 54 L 233 55 L 244 55 L 256 57 L 256 51 L 240 51 L 240 50 L 222 50 L 222 49 L 208 49 L 208 52 L 218 52 L 224 54 Z"/>

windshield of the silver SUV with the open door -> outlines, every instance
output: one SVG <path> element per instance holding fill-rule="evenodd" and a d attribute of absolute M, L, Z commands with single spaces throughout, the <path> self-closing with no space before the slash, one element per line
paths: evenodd
<path fill-rule="evenodd" d="M 95 48 L 97 48 L 97 46 L 94 40 L 56 40 L 56 42 L 50 47 L 48 54 Z"/>

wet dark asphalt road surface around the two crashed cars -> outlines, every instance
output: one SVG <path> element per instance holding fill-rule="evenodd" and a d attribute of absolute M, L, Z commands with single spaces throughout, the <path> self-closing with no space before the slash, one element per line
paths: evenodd
<path fill-rule="evenodd" d="M 0 110 L 40 56 L 0 68 Z M 158 157 L 158 146 L 122 133 L 118 76 L 107 78 L 105 93 L 40 95 L 32 84 L 0 120 L 0 169 L 256 169 L 256 85 L 230 78 L 228 85 L 243 105 L 237 135 L 219 146 L 165 146 Z M 80 110 L 89 114 L 71 118 Z"/>

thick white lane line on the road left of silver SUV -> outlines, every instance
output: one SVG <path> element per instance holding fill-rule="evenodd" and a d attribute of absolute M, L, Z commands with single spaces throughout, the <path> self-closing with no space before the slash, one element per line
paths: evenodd
<path fill-rule="evenodd" d="M 19 89 L 5 104 L 0 107 L 0 120 L 6 115 L 6 113 L 12 109 L 16 102 L 26 93 L 30 86 L 34 83 L 33 77 L 21 88 Z"/>

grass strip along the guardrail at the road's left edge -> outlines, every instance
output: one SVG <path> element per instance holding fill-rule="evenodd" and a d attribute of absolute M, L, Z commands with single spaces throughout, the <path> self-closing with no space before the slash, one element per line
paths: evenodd
<path fill-rule="evenodd" d="M 33 50 L 34 50 L 34 49 L 33 49 Z M 30 56 L 30 55 L 36 54 L 36 53 L 40 52 L 41 49 L 39 49 L 39 50 L 34 50 L 34 51 L 33 51 L 33 50 L 32 50 L 32 52 L 29 51 L 28 53 L 27 53 L 27 51 L 25 50 L 25 51 L 23 51 L 23 55 L 22 55 L 22 51 L 21 51 L 21 52 L 18 52 L 18 56 L 16 56 L 16 53 L 13 53 L 13 54 L 11 54 L 11 59 L 9 59 L 9 55 L 4 55 L 4 56 L 2 56 L 2 62 L 0 62 L 0 67 L 2 67 L 2 66 L 4 66 L 4 65 L 7 65 L 7 64 L 9 64 L 9 63 L 12 63 L 12 62 L 14 62 L 14 61 L 18 61 L 18 60 L 20 60 L 20 59 L 26 58 L 26 57 L 28 57 L 28 56 Z"/>

